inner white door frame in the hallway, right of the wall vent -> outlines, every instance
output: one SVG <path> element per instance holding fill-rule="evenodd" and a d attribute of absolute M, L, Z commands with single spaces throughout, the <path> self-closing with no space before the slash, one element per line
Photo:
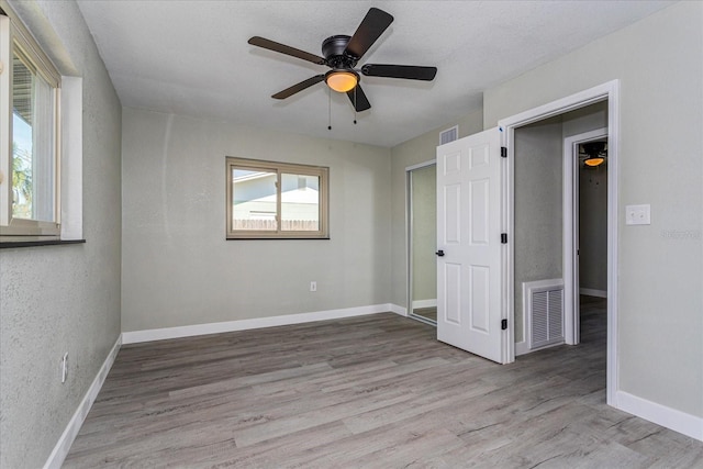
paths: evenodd
<path fill-rule="evenodd" d="M 568 345 L 578 345 L 581 327 L 579 293 L 579 175 L 578 146 L 582 143 L 607 137 L 607 127 L 596 129 L 563 139 L 563 304 L 567 308 L 563 317 L 563 340 Z M 569 203 L 569 201 L 571 203 Z"/>

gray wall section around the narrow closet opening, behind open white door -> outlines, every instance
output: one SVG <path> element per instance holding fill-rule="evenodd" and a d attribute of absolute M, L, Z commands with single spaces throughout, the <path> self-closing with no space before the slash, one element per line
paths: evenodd
<path fill-rule="evenodd" d="M 483 112 L 467 114 L 456 122 L 424 133 L 391 149 L 391 303 L 408 306 L 408 233 L 405 221 L 405 168 L 437 157 L 439 132 L 459 125 L 459 138 L 481 132 Z"/>

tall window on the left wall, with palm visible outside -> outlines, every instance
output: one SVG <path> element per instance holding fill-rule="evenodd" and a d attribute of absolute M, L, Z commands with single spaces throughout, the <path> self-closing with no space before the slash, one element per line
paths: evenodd
<path fill-rule="evenodd" d="M 0 241 L 58 238 L 60 76 L 5 15 L 0 63 Z"/>

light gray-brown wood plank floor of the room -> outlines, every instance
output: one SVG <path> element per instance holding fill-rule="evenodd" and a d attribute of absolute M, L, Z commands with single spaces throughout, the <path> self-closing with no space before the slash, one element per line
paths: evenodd
<path fill-rule="evenodd" d="M 392 313 L 124 346 L 65 467 L 703 467 L 605 405 L 604 319 L 506 366 Z"/>

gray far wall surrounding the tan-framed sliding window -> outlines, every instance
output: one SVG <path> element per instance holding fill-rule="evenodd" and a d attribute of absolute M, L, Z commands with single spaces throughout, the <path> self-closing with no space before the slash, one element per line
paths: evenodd
<path fill-rule="evenodd" d="M 123 331 L 389 302 L 390 149 L 135 109 L 122 129 Z M 328 166 L 331 239 L 225 241 L 225 156 Z"/>

